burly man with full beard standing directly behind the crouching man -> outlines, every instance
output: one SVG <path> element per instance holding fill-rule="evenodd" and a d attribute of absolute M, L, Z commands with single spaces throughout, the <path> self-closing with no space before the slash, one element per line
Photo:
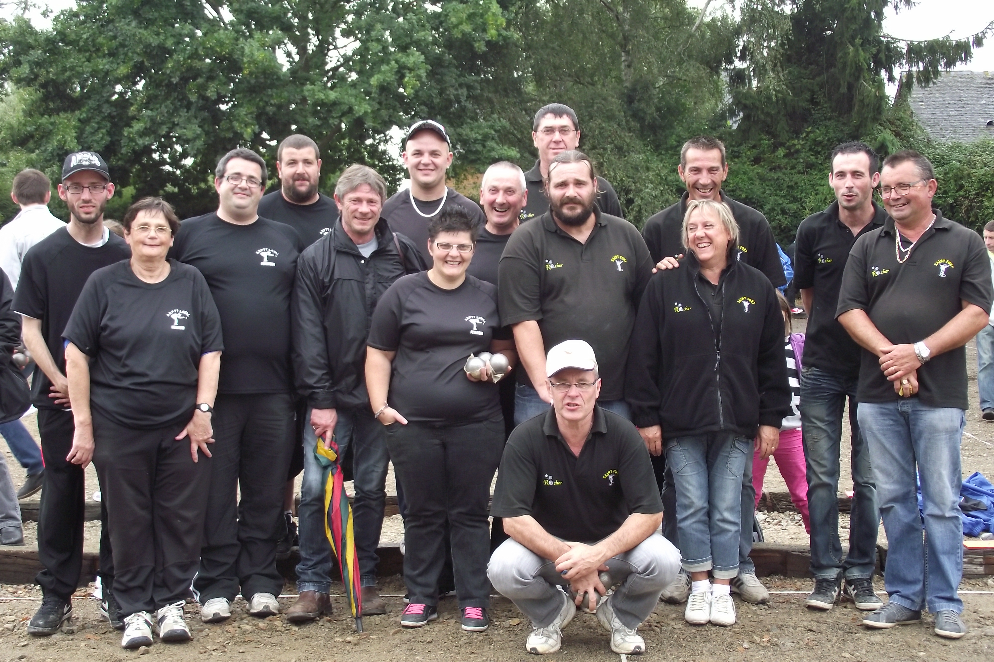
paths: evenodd
<path fill-rule="evenodd" d="M 624 366 L 652 257 L 635 227 L 594 204 L 596 174 L 579 151 L 549 164 L 550 210 L 517 230 L 500 259 L 501 320 L 521 357 L 515 423 L 549 410 L 546 347 L 585 340 L 606 366 L 601 408 L 628 417 Z"/>

